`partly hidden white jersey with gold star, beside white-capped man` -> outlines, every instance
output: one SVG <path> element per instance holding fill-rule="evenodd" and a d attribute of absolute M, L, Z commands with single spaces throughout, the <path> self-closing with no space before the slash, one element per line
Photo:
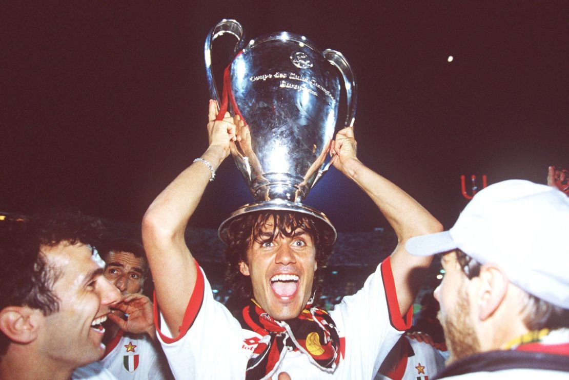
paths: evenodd
<path fill-rule="evenodd" d="M 445 359 L 438 349 L 407 336 L 402 339 L 385 362 L 378 362 L 375 380 L 428 380 L 444 369 Z"/>

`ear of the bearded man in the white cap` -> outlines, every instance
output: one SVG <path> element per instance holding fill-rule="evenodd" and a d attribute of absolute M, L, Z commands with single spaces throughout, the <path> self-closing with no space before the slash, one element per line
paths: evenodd
<path fill-rule="evenodd" d="M 508 293 L 508 277 L 496 266 L 483 265 L 480 268 L 479 279 L 478 316 L 484 321 L 500 307 Z"/>

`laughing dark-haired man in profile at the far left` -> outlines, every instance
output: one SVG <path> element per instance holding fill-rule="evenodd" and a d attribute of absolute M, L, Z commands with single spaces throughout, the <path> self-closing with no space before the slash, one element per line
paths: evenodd
<path fill-rule="evenodd" d="M 0 230 L 0 378 L 69 379 L 105 352 L 102 323 L 120 294 L 88 245 L 98 222 L 80 214 Z"/>

